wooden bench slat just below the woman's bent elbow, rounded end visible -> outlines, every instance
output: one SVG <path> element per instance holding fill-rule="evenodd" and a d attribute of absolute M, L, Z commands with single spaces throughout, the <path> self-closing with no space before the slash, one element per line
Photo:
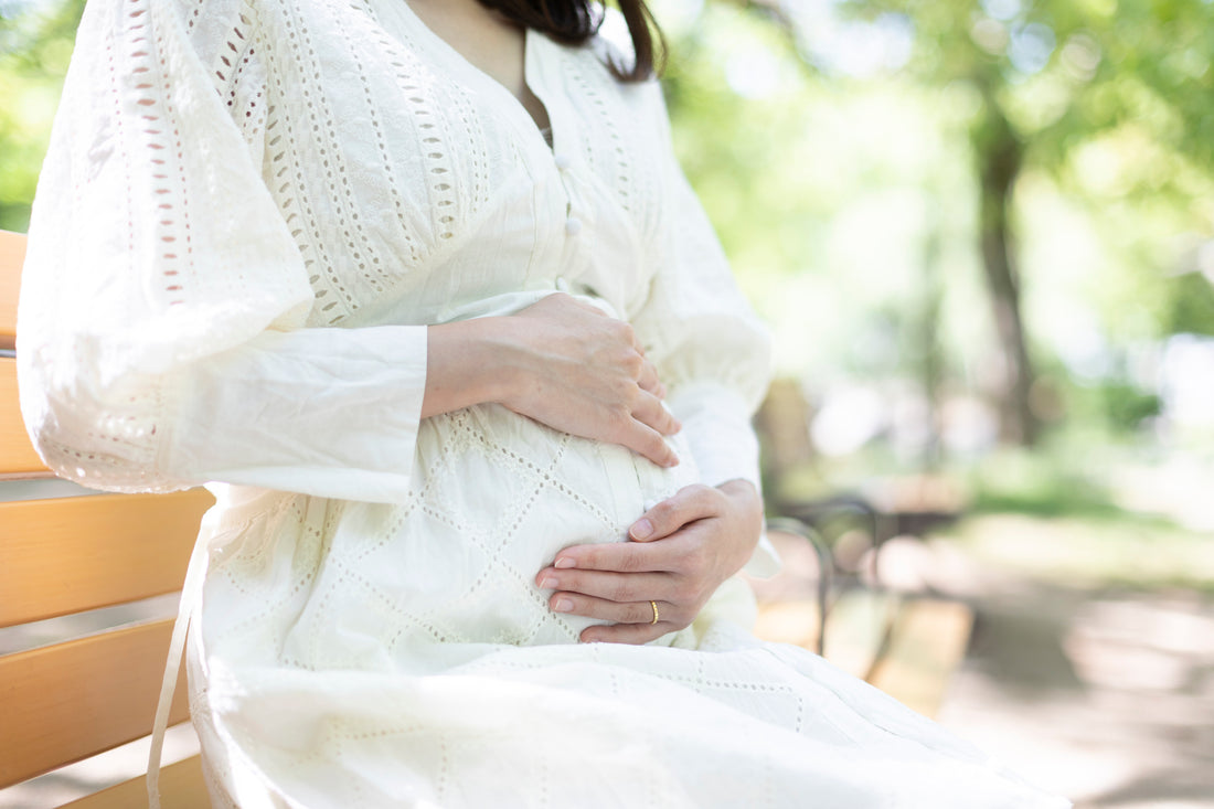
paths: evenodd
<path fill-rule="evenodd" d="M 0 627 L 181 589 L 211 503 L 202 488 L 0 503 Z"/>

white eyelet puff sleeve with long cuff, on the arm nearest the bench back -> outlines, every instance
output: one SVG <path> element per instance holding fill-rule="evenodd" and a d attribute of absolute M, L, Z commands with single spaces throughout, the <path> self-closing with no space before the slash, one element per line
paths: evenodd
<path fill-rule="evenodd" d="M 260 135 L 221 96 L 263 81 L 253 11 L 193 5 L 204 13 L 174 0 L 85 11 L 22 277 L 30 437 L 95 488 L 222 481 L 396 500 L 425 327 L 305 327 L 313 294 L 262 182 Z"/>

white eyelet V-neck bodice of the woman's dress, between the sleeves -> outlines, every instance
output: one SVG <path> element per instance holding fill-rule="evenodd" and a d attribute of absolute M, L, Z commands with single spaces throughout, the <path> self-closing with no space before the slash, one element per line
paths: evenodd
<path fill-rule="evenodd" d="M 512 92 L 407 4 L 363 1 L 365 13 L 344 22 L 362 46 L 325 55 L 317 86 L 288 92 L 317 102 L 320 135 L 340 131 L 344 148 L 365 143 L 380 153 L 370 163 L 359 153 L 352 165 L 364 170 L 330 168 L 336 185 L 307 198 L 351 213 L 370 204 L 395 216 L 408 259 L 402 266 L 381 258 L 374 239 L 382 228 L 337 214 L 329 221 L 351 222 L 341 242 L 348 247 L 310 256 L 324 299 L 317 322 L 432 323 L 483 311 L 483 301 L 501 295 L 552 289 L 592 293 L 613 312 L 635 312 L 654 268 L 651 243 L 669 172 L 659 87 L 618 83 L 603 41 L 569 47 L 528 29 L 524 77 L 545 104 L 550 145 Z M 291 33 L 279 35 L 290 41 Z M 327 74 L 358 74 L 365 89 L 351 94 L 348 80 Z M 287 94 L 268 90 L 282 108 Z M 266 160 L 273 165 L 274 154 Z M 271 188 L 283 203 L 300 200 L 294 185 Z M 347 203 L 352 197 L 361 202 Z"/>

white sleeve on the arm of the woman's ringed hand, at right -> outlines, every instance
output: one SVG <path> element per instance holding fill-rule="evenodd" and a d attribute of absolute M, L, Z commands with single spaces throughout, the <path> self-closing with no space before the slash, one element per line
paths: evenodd
<path fill-rule="evenodd" d="M 771 339 L 675 158 L 657 83 L 649 106 L 662 205 L 649 248 L 653 282 L 632 323 L 666 385 L 666 403 L 682 422 L 702 481 L 743 479 L 762 491 L 750 419 L 770 381 Z M 747 571 L 770 576 L 777 567 L 764 537 Z"/>

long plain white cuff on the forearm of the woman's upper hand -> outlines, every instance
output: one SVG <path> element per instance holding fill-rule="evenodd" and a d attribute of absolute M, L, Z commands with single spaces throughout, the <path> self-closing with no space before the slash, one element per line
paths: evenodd
<path fill-rule="evenodd" d="M 401 502 L 426 386 L 426 327 L 266 332 L 191 364 L 161 459 L 175 477 Z"/>

